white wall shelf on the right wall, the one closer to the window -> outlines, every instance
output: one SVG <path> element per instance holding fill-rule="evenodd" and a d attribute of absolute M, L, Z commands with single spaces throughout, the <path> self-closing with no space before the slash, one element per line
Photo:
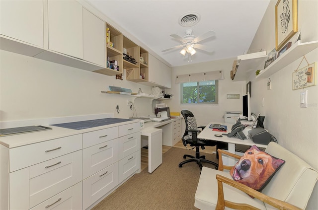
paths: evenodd
<path fill-rule="evenodd" d="M 234 75 L 234 81 L 248 78 L 250 72 L 255 72 L 258 66 L 266 60 L 266 51 L 238 56 L 239 67 Z"/>

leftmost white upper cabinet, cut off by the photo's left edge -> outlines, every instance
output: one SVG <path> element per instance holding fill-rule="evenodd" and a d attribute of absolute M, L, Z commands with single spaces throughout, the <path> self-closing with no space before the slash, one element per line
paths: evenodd
<path fill-rule="evenodd" d="M 1 49 L 33 56 L 43 51 L 43 0 L 0 0 Z"/>

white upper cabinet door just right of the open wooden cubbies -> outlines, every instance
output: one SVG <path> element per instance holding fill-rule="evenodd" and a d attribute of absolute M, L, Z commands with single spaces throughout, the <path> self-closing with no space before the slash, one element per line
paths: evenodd
<path fill-rule="evenodd" d="M 149 54 L 148 81 L 171 88 L 171 68 Z"/>

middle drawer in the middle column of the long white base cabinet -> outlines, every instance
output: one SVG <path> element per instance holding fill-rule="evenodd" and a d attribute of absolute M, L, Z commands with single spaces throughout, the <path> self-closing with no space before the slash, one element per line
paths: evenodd
<path fill-rule="evenodd" d="M 83 149 L 83 179 L 118 161 L 118 139 Z"/>

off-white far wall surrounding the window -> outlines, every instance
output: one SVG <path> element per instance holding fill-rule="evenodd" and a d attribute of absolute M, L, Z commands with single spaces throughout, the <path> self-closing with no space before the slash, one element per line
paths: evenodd
<path fill-rule="evenodd" d="M 168 102 L 171 112 L 180 112 L 182 109 L 190 110 L 198 126 L 206 126 L 209 122 L 224 122 L 225 111 L 242 111 L 242 95 L 245 93 L 245 81 L 233 82 L 230 78 L 233 61 L 229 58 L 219 61 L 206 62 L 200 64 L 189 64 L 187 66 L 172 67 L 171 70 L 171 90 L 166 90 L 173 94 L 173 100 Z M 225 79 L 219 80 L 219 104 L 218 105 L 181 105 L 180 104 L 180 84 L 175 84 L 176 75 L 223 70 Z M 227 94 L 239 94 L 239 99 L 227 99 Z M 184 130 L 184 126 L 183 126 Z"/>

